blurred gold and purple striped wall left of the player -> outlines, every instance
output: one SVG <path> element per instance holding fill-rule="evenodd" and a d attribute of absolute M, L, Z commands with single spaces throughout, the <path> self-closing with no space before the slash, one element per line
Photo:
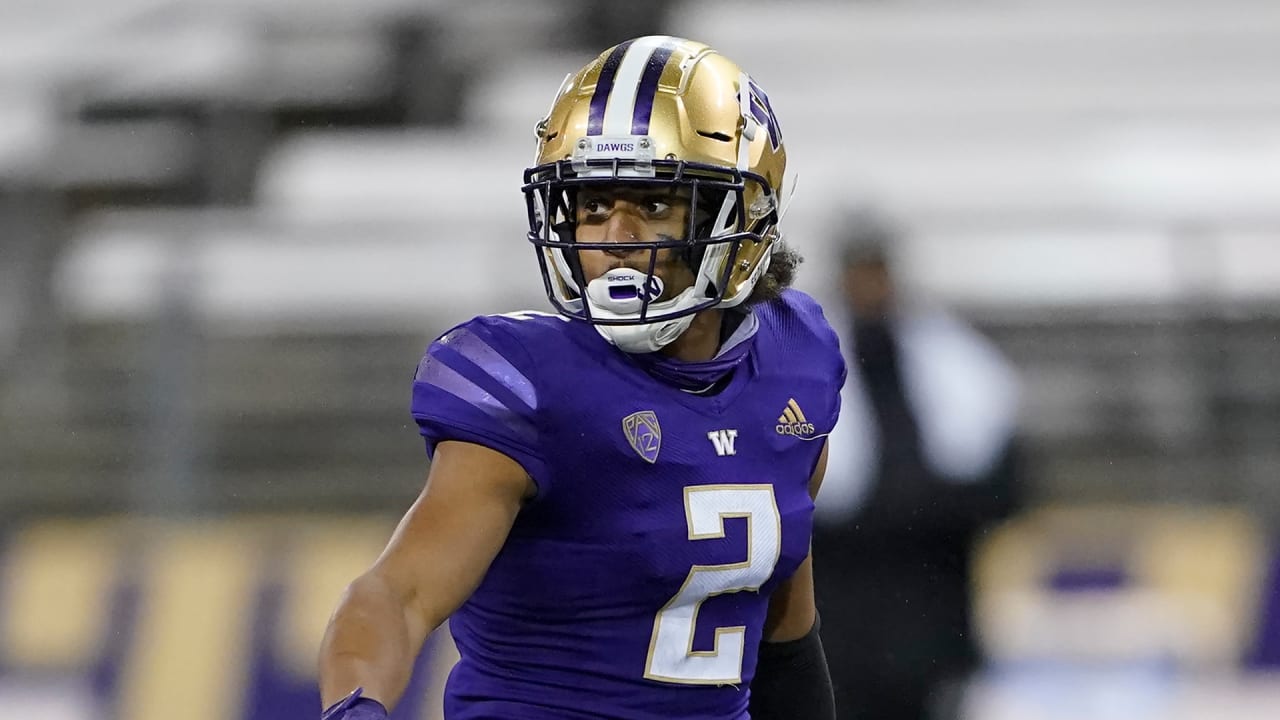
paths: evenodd
<path fill-rule="evenodd" d="M 13 528 L 0 696 L 41 720 L 316 716 L 317 628 L 393 527 L 278 516 Z M 447 635 L 429 643 L 397 717 L 439 717 L 454 657 Z"/>

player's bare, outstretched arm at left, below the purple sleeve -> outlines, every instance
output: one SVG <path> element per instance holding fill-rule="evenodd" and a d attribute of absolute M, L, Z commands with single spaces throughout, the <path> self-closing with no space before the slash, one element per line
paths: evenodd
<path fill-rule="evenodd" d="M 422 493 L 374 566 L 347 588 L 325 630 L 325 706 L 356 688 L 388 708 L 399 700 L 428 633 L 479 585 L 532 489 L 524 468 L 500 452 L 467 442 L 435 448 Z M 348 712 L 333 716 L 366 716 Z"/>

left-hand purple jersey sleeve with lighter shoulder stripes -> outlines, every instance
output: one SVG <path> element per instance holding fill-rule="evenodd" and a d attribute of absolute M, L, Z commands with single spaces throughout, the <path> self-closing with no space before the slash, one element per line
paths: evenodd
<path fill-rule="evenodd" d="M 539 429 L 536 366 L 493 318 L 476 318 L 428 347 L 411 413 L 428 456 L 444 441 L 483 445 L 518 462 L 543 495 L 549 484 Z"/>

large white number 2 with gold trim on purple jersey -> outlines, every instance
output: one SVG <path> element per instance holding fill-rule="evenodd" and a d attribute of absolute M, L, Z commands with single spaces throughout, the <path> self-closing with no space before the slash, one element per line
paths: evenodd
<path fill-rule="evenodd" d="M 746 626 L 716 628 L 713 650 L 694 650 L 703 601 L 717 594 L 758 591 L 773 575 L 782 550 L 782 516 L 773 486 L 698 486 L 685 488 L 689 539 L 724 537 L 726 518 L 746 518 L 746 559 L 727 565 L 694 565 L 680 592 L 653 621 L 644 676 L 695 685 L 742 682 Z"/>

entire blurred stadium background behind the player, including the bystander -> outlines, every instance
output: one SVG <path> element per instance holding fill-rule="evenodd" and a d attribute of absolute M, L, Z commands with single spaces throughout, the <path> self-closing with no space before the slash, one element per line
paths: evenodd
<path fill-rule="evenodd" d="M 417 360 L 549 309 L 532 126 L 646 33 L 769 92 L 845 333 L 841 717 L 1280 716 L 1274 0 L 0 0 L 6 715 L 316 716 Z"/>

